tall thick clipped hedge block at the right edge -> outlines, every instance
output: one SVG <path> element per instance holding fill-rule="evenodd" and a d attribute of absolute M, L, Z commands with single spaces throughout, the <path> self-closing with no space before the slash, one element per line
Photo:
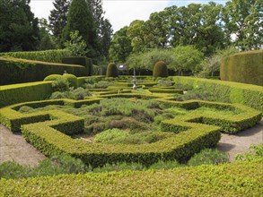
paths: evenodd
<path fill-rule="evenodd" d="M 263 50 L 226 56 L 221 61 L 220 78 L 263 86 Z"/>

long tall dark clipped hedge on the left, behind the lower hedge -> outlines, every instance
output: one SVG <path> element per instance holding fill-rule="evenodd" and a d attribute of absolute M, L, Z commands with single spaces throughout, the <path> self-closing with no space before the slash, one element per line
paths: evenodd
<path fill-rule="evenodd" d="M 76 76 L 87 75 L 86 68 L 82 65 L 0 57 L 0 85 L 43 81 L 49 74 L 62 74 L 65 71 Z"/>

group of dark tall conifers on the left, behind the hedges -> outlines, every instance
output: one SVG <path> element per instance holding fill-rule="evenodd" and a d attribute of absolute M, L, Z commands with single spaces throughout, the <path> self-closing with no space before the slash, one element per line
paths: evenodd
<path fill-rule="evenodd" d="M 112 29 L 101 0 L 55 0 L 48 21 L 35 18 L 30 3 L 0 0 L 0 52 L 65 48 L 70 33 L 78 31 L 85 56 L 108 57 Z"/>

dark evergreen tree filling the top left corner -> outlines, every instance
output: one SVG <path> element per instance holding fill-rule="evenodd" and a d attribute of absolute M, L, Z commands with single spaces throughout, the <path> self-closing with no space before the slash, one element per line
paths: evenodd
<path fill-rule="evenodd" d="M 39 44 L 38 18 L 30 0 L 0 1 L 0 51 L 35 50 Z"/>

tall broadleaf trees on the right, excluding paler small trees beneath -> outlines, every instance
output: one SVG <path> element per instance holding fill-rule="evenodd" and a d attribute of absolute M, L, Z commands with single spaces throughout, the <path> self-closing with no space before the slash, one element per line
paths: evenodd
<path fill-rule="evenodd" d="M 205 56 L 230 46 L 241 50 L 259 49 L 263 41 L 262 7 L 259 0 L 167 7 L 152 13 L 147 21 L 132 21 L 128 27 L 115 32 L 110 58 L 124 62 L 131 53 L 180 45 L 192 45 Z"/>

